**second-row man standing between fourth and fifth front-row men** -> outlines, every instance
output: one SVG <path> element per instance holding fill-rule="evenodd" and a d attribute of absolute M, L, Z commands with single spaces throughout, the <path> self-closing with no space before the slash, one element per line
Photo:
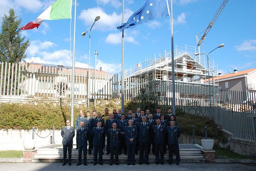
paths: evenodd
<path fill-rule="evenodd" d="M 119 134 L 119 155 L 122 154 L 122 151 L 125 155 L 127 155 L 127 146 L 126 139 L 124 137 L 124 128 L 128 125 L 128 121 L 125 120 L 125 115 L 121 115 L 121 119 L 117 121 L 117 127 L 121 131 Z"/>

